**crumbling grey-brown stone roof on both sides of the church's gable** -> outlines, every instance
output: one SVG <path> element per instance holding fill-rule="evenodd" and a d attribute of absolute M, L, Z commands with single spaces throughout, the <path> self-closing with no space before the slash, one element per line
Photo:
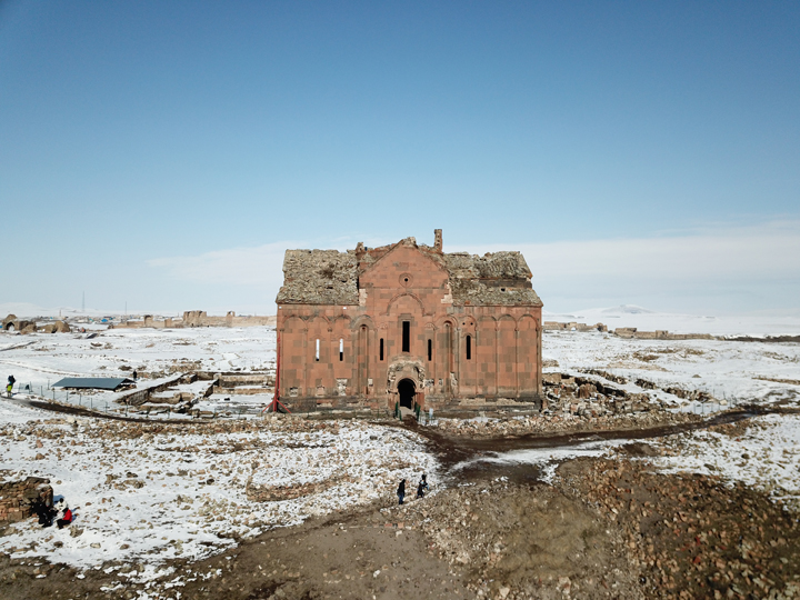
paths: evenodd
<path fill-rule="evenodd" d="M 444 253 L 440 246 L 406 238 L 390 246 L 354 250 L 287 250 L 279 304 L 358 304 L 359 277 L 399 244 L 410 246 L 448 271 L 454 306 L 542 306 L 520 252 Z"/>

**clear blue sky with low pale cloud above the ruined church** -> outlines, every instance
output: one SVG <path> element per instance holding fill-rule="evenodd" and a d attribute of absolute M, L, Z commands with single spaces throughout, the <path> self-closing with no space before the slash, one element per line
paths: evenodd
<path fill-rule="evenodd" d="M 443 228 L 522 249 L 551 311 L 797 311 L 798 31 L 796 2 L 0 2 L 0 303 L 272 312 L 288 247 Z"/>

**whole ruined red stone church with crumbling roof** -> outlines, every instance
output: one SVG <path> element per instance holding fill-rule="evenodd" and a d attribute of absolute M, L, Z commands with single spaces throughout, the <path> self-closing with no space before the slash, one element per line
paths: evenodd
<path fill-rule="evenodd" d="M 446 254 L 408 238 L 289 250 L 278 294 L 278 392 L 290 409 L 532 402 L 541 308 L 519 252 Z"/>

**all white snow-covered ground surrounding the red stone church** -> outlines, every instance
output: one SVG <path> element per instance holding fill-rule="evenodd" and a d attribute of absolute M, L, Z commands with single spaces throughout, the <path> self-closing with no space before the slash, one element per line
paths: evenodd
<path fill-rule="evenodd" d="M 650 322 L 620 317 L 617 326 L 608 318 L 571 317 L 611 327 L 681 331 L 666 317 L 652 313 Z M 712 321 L 701 326 L 693 321 L 683 331 L 797 334 L 791 319 L 772 329 L 748 326 L 737 330 Z M 98 332 L 93 339 L 81 333 L 0 333 L 0 379 L 13 373 L 21 384 L 47 388 L 66 376 L 127 377 L 131 372 L 127 368 L 167 377 L 181 370 L 247 372 L 274 364 L 276 333 L 268 327 Z M 624 377 L 629 391 L 646 391 L 636 383 L 646 380 L 661 388 L 702 390 L 744 402 L 797 406 L 800 400 L 797 343 L 631 340 L 599 332 L 546 332 L 542 347 L 544 360 L 551 361 L 546 371 L 586 374 L 601 370 Z M 147 381 L 151 380 L 142 384 Z M 206 408 L 234 402 L 234 398 L 226 398 L 216 394 L 204 401 Z M 257 394 L 237 401 L 258 407 L 267 400 L 268 396 Z M 176 426 L 158 434 L 141 434 L 139 426 L 131 423 L 94 419 L 76 423 L 0 400 L 0 473 L 4 479 L 49 478 L 56 493 L 81 507 L 76 528 L 83 529 L 72 538 L 68 531 L 41 530 L 28 521 L 0 538 L 0 551 L 17 557 L 48 554 L 51 560 L 84 568 L 113 558 L 147 564 L 131 571 L 131 577 L 147 578 L 159 561 L 206 556 L 233 543 L 231 536 L 253 536 L 316 512 L 391 498 L 401 477 L 413 480 L 420 472 L 436 469 L 419 438 L 358 421 L 316 429 L 303 421 L 251 418 L 240 426 L 231 420 L 218 432 L 213 432 L 213 423 L 206 426 L 210 430 L 186 423 L 180 431 Z M 800 489 L 800 417 L 764 417 L 759 423 L 741 439 L 693 432 L 664 440 L 664 448 L 680 444 L 682 451 L 658 461 L 671 470 L 708 471 L 711 466 L 713 472 L 792 497 Z M 231 432 L 230 427 L 246 430 Z M 491 460 L 536 462 L 551 476 L 560 460 L 612 452 L 612 446 L 592 442 Z M 46 458 L 37 460 L 37 454 Z M 320 487 L 296 500 L 253 502 L 246 496 L 248 481 Z M 56 541 L 62 546 L 56 548 Z"/>

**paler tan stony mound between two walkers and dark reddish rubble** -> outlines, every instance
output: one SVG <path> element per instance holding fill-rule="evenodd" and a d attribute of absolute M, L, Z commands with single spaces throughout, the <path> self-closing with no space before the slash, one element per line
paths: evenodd
<path fill-rule="evenodd" d="M 422 530 L 431 551 L 468 570 L 474 598 L 643 597 L 617 530 L 550 486 L 499 478 L 381 513 L 398 529 Z"/>

